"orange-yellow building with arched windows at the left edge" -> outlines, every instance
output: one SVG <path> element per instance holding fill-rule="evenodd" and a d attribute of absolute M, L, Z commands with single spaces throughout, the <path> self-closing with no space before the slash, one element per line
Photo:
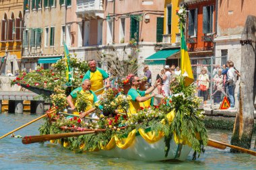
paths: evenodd
<path fill-rule="evenodd" d="M 21 67 L 23 0 L 1 1 L 1 75 L 14 75 Z"/>

